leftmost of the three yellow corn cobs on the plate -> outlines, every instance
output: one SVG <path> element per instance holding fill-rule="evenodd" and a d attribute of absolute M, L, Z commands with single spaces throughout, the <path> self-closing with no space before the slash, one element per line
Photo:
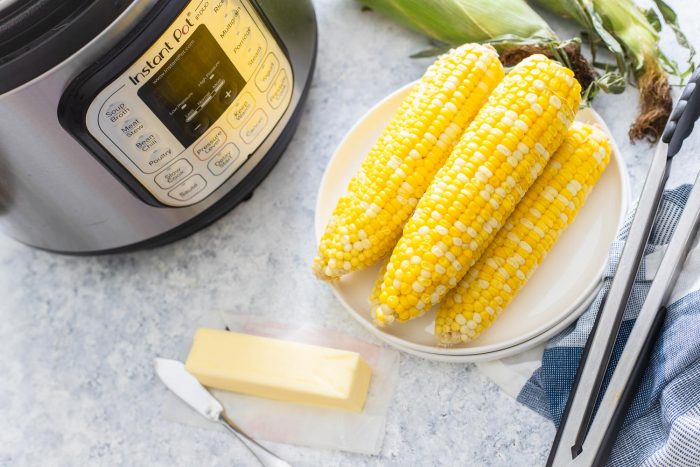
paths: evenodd
<path fill-rule="evenodd" d="M 491 47 L 441 56 L 403 101 L 338 201 L 313 263 L 324 280 L 387 255 L 435 173 L 504 71 Z"/>

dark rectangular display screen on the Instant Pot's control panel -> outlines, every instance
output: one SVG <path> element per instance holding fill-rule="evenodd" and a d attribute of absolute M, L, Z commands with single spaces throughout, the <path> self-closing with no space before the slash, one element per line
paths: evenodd
<path fill-rule="evenodd" d="M 200 25 L 138 95 L 188 147 L 226 111 L 245 84 L 216 39 Z"/>

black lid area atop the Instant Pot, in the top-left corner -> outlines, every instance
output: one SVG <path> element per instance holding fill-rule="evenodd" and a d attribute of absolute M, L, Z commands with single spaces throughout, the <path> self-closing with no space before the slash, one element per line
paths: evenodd
<path fill-rule="evenodd" d="M 133 1 L 0 0 L 0 94 L 70 57 Z"/>

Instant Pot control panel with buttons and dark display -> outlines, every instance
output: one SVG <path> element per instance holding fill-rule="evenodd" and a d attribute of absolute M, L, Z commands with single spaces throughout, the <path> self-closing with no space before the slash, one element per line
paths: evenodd
<path fill-rule="evenodd" d="M 195 0 L 86 114 L 89 133 L 166 206 L 224 183 L 286 111 L 292 68 L 247 0 Z"/>

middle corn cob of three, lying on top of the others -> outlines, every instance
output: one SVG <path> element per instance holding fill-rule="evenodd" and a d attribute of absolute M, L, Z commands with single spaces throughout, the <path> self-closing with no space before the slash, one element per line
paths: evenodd
<path fill-rule="evenodd" d="M 571 70 L 542 55 L 511 70 L 406 224 L 372 311 L 378 325 L 422 315 L 457 285 L 563 141 L 580 92 Z"/>

